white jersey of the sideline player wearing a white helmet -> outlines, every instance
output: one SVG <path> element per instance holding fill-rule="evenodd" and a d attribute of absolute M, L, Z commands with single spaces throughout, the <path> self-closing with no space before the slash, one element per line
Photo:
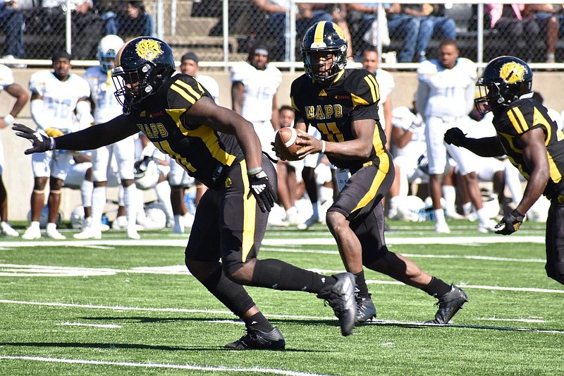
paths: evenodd
<path fill-rule="evenodd" d="M 123 107 L 114 95 L 116 87 L 111 80 L 111 71 L 102 71 L 99 66 L 92 66 L 84 73 L 94 99 L 94 124 L 106 123 L 123 114 Z"/>

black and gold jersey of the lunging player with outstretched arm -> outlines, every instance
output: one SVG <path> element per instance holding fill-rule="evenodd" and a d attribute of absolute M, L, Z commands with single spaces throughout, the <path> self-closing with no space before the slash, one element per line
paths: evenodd
<path fill-rule="evenodd" d="M 190 75 L 173 75 L 149 97 L 145 109 L 128 116 L 161 152 L 212 188 L 228 167 L 243 159 L 234 135 L 193 123 L 185 114 L 202 97 L 212 96 Z M 212 99 L 213 100 L 213 99 Z"/>

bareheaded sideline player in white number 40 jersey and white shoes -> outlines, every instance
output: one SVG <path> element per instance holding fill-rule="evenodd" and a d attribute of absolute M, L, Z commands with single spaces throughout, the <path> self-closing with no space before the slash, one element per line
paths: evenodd
<path fill-rule="evenodd" d="M 79 75 L 71 73 L 72 56 L 66 51 L 57 51 L 52 56 L 53 71 L 39 71 L 30 77 L 31 116 L 37 124 L 37 131 L 58 137 L 66 133 L 80 131 L 90 126 L 90 87 Z M 56 229 L 56 219 L 61 205 L 61 187 L 68 173 L 72 153 L 49 151 L 32 156 L 34 176 L 31 195 L 31 224 L 23 238 L 41 238 L 39 217 L 45 200 L 45 186 L 49 179 L 49 218 L 47 219 L 47 238 L 64 239 Z"/>

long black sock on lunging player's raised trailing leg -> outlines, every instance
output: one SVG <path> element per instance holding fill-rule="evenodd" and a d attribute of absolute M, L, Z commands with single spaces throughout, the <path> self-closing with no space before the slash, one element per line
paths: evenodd
<path fill-rule="evenodd" d="M 309 272 L 276 259 L 257 260 L 252 275 L 252 286 L 285 291 L 319 293 L 325 286 L 333 286 L 335 282 L 332 277 Z"/>

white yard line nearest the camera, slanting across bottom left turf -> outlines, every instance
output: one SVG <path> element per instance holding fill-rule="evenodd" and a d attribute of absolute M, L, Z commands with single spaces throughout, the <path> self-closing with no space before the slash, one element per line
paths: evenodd
<path fill-rule="evenodd" d="M 189 364 L 167 364 L 167 363 L 132 363 L 132 362 L 109 362 L 105 360 L 85 360 L 85 359 L 61 359 L 61 358 L 44 358 L 42 356 L 0 356 L 0 360 L 33 360 L 37 362 L 47 363 L 68 363 L 68 364 L 90 364 L 90 365 L 118 365 L 121 367 L 137 367 L 137 368 L 164 368 L 172 370 L 198 370 L 198 371 L 214 371 L 214 372 L 260 372 L 271 375 L 288 375 L 288 376 L 328 376 L 319 373 L 296 372 L 289 370 L 277 370 L 276 368 L 239 368 Z"/>

